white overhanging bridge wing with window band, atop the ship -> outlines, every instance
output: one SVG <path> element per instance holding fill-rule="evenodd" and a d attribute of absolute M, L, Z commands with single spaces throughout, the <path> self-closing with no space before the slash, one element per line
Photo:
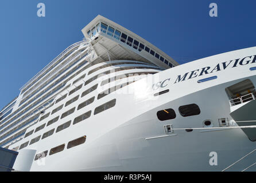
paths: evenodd
<path fill-rule="evenodd" d="M 102 59 L 134 59 L 163 69 L 179 65 L 156 46 L 101 15 L 88 23 L 82 32 L 87 40 L 91 40 L 99 62 Z"/>

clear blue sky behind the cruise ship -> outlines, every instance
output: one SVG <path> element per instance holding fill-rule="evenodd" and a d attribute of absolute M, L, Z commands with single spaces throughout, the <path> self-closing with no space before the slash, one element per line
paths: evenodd
<path fill-rule="evenodd" d="M 46 17 L 37 17 L 37 3 Z M 218 5 L 218 17 L 209 5 Z M 256 1 L 231 0 L 1 0 L 0 109 L 20 87 L 100 14 L 153 43 L 179 63 L 256 46 Z"/>

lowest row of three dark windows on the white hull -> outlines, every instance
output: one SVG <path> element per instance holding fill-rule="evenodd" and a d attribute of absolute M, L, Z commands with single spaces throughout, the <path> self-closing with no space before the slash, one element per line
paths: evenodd
<path fill-rule="evenodd" d="M 76 138 L 75 140 L 72 140 L 72 141 L 68 142 L 67 149 L 73 148 L 77 145 L 84 144 L 84 142 L 86 142 L 86 136 Z M 56 146 L 55 148 L 52 148 L 50 150 L 49 156 L 51 156 L 52 154 L 59 153 L 59 152 L 63 151 L 64 149 L 65 149 L 65 144 L 61 144 L 59 146 Z M 44 152 L 36 154 L 36 156 L 34 157 L 34 161 L 46 157 L 47 154 L 48 154 L 48 150 L 45 150 Z"/>

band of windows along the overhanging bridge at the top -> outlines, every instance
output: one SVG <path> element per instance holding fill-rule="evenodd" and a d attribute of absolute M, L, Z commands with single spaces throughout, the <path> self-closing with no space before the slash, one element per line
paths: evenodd
<path fill-rule="evenodd" d="M 138 51 L 145 50 L 148 53 L 152 54 L 157 59 L 160 59 L 160 61 L 164 62 L 166 65 L 170 67 L 174 67 L 172 63 L 170 63 L 160 54 L 156 53 L 156 51 L 150 50 L 148 46 L 145 46 L 142 43 L 139 43 L 136 39 L 126 35 L 125 33 L 121 33 L 121 31 L 114 29 L 113 27 L 108 26 L 105 23 L 100 23 L 100 30 L 99 30 L 99 23 L 98 23 L 96 27 L 92 28 L 91 30 L 88 30 L 87 34 L 89 37 L 93 37 L 94 35 L 96 35 L 97 32 L 99 33 L 99 31 L 101 31 L 102 33 L 106 33 L 107 35 L 110 35 L 111 37 L 114 37 L 115 39 L 118 39 L 123 43 L 126 43 L 127 45 L 133 47 L 135 50 L 138 50 Z"/>

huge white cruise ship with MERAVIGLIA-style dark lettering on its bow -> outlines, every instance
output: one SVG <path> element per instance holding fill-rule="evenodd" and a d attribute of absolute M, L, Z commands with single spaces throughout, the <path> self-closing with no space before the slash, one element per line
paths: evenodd
<path fill-rule="evenodd" d="M 82 33 L 1 110 L 15 171 L 256 170 L 256 47 L 179 65 L 101 15 Z"/>

